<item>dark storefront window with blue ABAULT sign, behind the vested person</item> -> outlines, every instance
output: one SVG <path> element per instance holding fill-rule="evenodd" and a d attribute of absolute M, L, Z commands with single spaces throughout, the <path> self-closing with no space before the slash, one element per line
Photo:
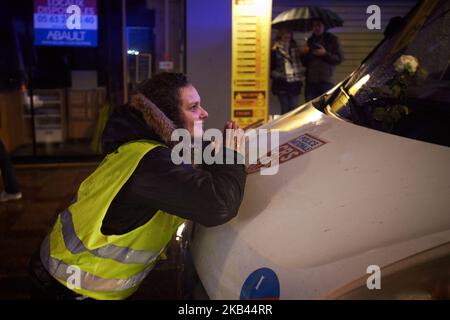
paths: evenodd
<path fill-rule="evenodd" d="M 134 86 L 184 71 L 184 1 L 67 3 L 2 5 L 0 134 L 16 163 L 100 160 L 108 116 Z"/>

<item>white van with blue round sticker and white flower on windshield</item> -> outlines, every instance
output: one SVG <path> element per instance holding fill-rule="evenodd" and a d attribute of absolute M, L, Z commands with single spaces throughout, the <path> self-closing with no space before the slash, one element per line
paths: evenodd
<path fill-rule="evenodd" d="M 449 298 L 449 9 L 423 1 L 262 127 L 279 130 L 278 172 L 250 170 L 238 216 L 193 237 L 211 299 Z"/>

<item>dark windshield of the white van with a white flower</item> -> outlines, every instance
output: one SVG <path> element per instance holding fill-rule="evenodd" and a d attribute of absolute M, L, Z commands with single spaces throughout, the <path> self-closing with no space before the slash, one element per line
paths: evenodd
<path fill-rule="evenodd" d="M 397 22 L 323 107 L 314 105 L 357 125 L 450 146 L 450 1 L 423 1 Z"/>

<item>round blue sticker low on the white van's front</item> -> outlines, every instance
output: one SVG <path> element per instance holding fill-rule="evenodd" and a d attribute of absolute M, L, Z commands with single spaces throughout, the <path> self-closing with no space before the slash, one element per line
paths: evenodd
<path fill-rule="evenodd" d="M 240 299 L 279 300 L 280 281 L 276 273 L 269 268 L 253 271 L 242 285 Z"/>

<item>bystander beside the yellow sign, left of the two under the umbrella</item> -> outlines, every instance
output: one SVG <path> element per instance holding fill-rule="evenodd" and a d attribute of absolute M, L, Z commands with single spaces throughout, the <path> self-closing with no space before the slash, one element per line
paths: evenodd
<path fill-rule="evenodd" d="M 298 106 L 301 82 L 301 61 L 299 48 L 292 32 L 278 31 L 270 55 L 270 77 L 272 93 L 278 97 L 281 113 L 287 113 Z"/>

